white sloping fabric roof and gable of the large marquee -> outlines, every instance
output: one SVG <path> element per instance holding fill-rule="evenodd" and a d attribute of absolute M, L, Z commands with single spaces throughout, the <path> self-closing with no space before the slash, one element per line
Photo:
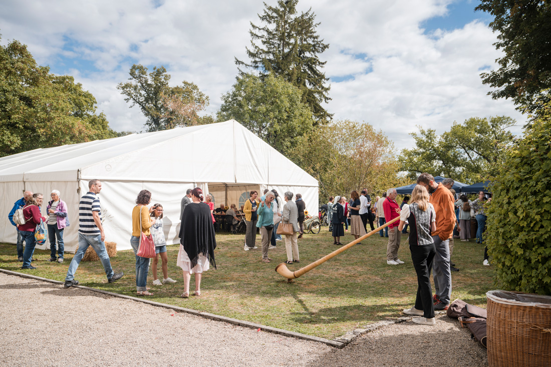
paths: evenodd
<path fill-rule="evenodd" d="M 235 120 L 0 158 L 0 181 L 129 180 L 318 186 Z"/>

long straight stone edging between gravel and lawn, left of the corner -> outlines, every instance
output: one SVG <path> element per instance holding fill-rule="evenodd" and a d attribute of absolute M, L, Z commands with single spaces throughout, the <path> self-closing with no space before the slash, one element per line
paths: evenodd
<path fill-rule="evenodd" d="M 41 280 L 42 282 L 61 284 L 61 285 L 63 284 L 63 282 L 60 282 L 59 280 L 53 280 L 53 279 L 48 279 L 48 278 L 37 277 L 37 276 L 31 275 L 31 274 L 14 272 L 14 271 L 2 269 L 2 268 L 0 268 L 0 272 L 5 273 L 5 274 L 9 274 L 9 275 L 12 275 L 12 276 L 21 277 L 21 278 Z M 225 316 L 220 316 L 220 315 L 209 314 L 208 312 L 199 312 L 197 310 L 186 309 L 184 307 L 173 306 L 173 305 L 168 305 L 168 304 L 159 303 L 159 302 L 155 302 L 155 301 L 150 301 L 150 300 L 147 300 L 147 299 L 136 298 L 136 297 L 133 297 L 133 296 L 127 296 L 127 295 L 124 295 L 124 294 L 108 292 L 106 290 L 85 287 L 84 285 L 73 285 L 73 287 L 74 288 L 88 289 L 88 290 L 91 290 L 92 292 L 98 292 L 98 293 L 110 295 L 110 296 L 113 296 L 113 297 L 130 299 L 130 300 L 133 300 L 133 301 L 149 304 L 149 305 L 152 305 L 152 306 L 164 307 L 165 309 L 175 310 L 175 311 L 179 311 L 179 312 L 186 312 L 187 314 L 201 316 L 201 317 L 205 317 L 206 319 L 211 319 L 211 320 L 215 320 L 215 321 L 228 322 L 228 323 L 231 323 L 231 324 L 237 325 L 237 326 L 244 326 L 244 327 L 249 327 L 249 328 L 252 328 L 252 329 L 260 328 L 262 331 L 267 331 L 267 332 L 271 332 L 271 333 L 280 334 L 280 335 L 283 335 L 283 336 L 288 336 L 288 337 L 299 338 L 299 339 L 309 340 L 309 341 L 313 341 L 313 342 L 323 343 L 323 344 L 327 344 L 328 346 L 336 347 L 336 348 L 339 348 L 339 349 L 343 348 L 346 344 L 348 344 L 348 343 L 345 343 L 345 342 L 337 340 L 337 339 L 329 340 L 329 339 L 325 339 L 325 338 L 318 338 L 318 337 L 307 335 L 307 334 L 296 333 L 296 332 L 293 332 L 293 331 L 279 329 L 277 327 L 261 325 L 259 323 L 232 319 L 231 317 L 225 317 Z"/>

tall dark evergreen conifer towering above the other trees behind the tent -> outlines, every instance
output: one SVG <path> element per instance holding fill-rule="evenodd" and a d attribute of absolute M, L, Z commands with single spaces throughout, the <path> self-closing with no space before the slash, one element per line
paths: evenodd
<path fill-rule="evenodd" d="M 257 26 L 251 22 L 251 48 L 247 47 L 250 63 L 237 60 L 241 68 L 253 68 L 264 78 L 268 74 L 282 77 L 302 91 L 302 102 L 309 106 L 318 123 L 331 118 L 321 104 L 330 100 L 329 78 L 322 68 L 325 61 L 318 55 L 327 50 L 328 44 L 316 33 L 320 23 L 315 23 L 316 15 L 309 9 L 300 15 L 296 12 L 298 0 L 278 0 L 276 7 L 264 3 L 264 13 L 258 18 L 264 24 Z"/>

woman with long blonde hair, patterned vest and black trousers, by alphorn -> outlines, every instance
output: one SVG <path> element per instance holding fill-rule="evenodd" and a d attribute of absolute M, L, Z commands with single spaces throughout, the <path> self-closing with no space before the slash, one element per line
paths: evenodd
<path fill-rule="evenodd" d="M 430 287 L 430 271 L 433 268 L 436 248 L 431 232 L 436 231 L 436 213 L 433 204 L 429 203 L 429 192 L 424 186 L 413 188 L 409 204 L 404 204 L 400 211 L 398 230 L 409 223 L 409 250 L 412 253 L 413 267 L 417 273 L 417 296 L 415 305 L 404 314 L 414 317 L 413 322 L 422 325 L 435 325 L 433 291 Z"/>

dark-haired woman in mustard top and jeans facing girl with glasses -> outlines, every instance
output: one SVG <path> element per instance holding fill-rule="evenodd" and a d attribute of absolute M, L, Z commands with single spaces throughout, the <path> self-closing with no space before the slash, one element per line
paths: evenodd
<path fill-rule="evenodd" d="M 155 224 L 155 218 L 149 217 L 147 205 L 151 202 L 151 192 L 142 190 L 136 199 L 136 206 L 132 209 L 132 237 L 130 245 L 136 255 L 136 292 L 137 295 L 153 295 L 147 290 L 147 273 L 149 272 L 149 257 L 138 256 L 139 247 L 151 238 L 150 228 Z M 153 209 L 153 207 L 152 207 Z M 140 243 L 142 242 L 142 243 Z"/>

